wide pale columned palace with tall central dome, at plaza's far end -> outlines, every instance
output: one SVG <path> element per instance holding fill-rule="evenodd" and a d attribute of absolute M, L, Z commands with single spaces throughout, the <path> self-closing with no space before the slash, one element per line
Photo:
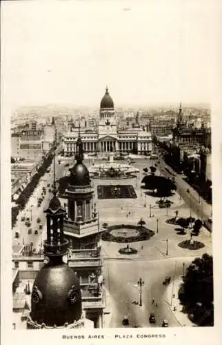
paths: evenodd
<path fill-rule="evenodd" d="M 99 124 L 91 130 L 85 121 L 85 128 L 81 130 L 83 150 L 88 153 L 97 152 L 106 155 L 108 152 L 147 154 L 152 151 L 152 137 L 150 131 L 137 121 L 135 115 L 134 126 L 121 129 L 119 119 L 114 110 L 114 101 L 108 88 L 105 88 L 99 107 Z M 65 156 L 72 156 L 76 152 L 78 133 L 70 130 L 63 137 Z"/>

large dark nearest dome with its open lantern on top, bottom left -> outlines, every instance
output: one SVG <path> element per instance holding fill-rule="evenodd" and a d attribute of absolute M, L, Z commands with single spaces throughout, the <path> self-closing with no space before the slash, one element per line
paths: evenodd
<path fill-rule="evenodd" d="M 34 279 L 27 328 L 79 328 L 88 324 L 82 313 L 81 286 L 74 270 L 63 262 L 68 240 L 63 234 L 65 210 L 54 191 L 48 208 L 44 253 L 48 262 Z M 92 326 L 92 325 L 91 325 Z"/>

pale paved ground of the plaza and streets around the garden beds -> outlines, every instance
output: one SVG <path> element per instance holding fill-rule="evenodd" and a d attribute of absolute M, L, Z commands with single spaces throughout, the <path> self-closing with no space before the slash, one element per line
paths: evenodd
<path fill-rule="evenodd" d="M 92 159 L 85 159 L 85 165 L 90 167 Z M 101 159 L 94 159 L 94 163 L 99 164 Z M 72 166 L 73 160 L 64 159 L 61 164 L 56 164 L 57 179 L 68 175 L 68 168 Z M 67 166 L 68 164 L 68 166 Z M 145 227 L 154 231 L 154 235 L 146 241 L 129 242 L 129 246 L 134 248 L 137 253 L 132 255 L 124 255 L 119 253 L 121 248 L 126 244 L 116 242 L 102 241 L 101 250 L 103 256 L 103 277 L 105 282 L 105 289 L 109 292 L 110 299 L 110 317 L 109 322 L 105 323 L 105 327 L 122 327 L 122 319 L 124 315 L 129 315 L 130 325 L 139 324 L 139 326 L 160 326 L 162 319 L 168 319 L 169 326 L 183 326 L 186 324 L 183 315 L 183 322 L 181 323 L 174 316 L 172 307 L 169 306 L 169 288 L 166 290 L 163 286 L 165 276 L 170 275 L 172 279 L 179 279 L 183 272 L 183 263 L 188 267 L 194 257 L 200 257 L 203 253 L 212 254 L 212 238 L 209 231 L 201 228 L 200 234 L 197 237 L 198 241 L 203 242 L 204 248 L 199 250 L 188 250 L 178 246 L 180 242 L 185 239 L 190 239 L 190 230 L 186 230 L 185 235 L 179 235 L 172 224 L 167 224 L 166 220 L 175 216 L 175 211 L 179 212 L 179 217 L 190 216 L 190 199 L 183 200 L 183 192 L 180 190 L 168 197 L 172 201 L 171 207 L 159 208 L 157 201 L 159 198 L 153 197 L 145 193 L 141 188 L 141 180 L 143 179 L 143 168 L 153 165 L 150 159 L 145 157 L 134 157 L 134 167 L 139 169 L 137 176 L 129 177 L 128 179 L 92 179 L 94 187 L 94 202 L 97 203 L 99 210 L 99 228 L 103 228 L 104 224 L 107 226 L 114 226 L 118 224 L 128 224 L 137 226 L 140 219 L 145 221 Z M 157 168 L 156 175 L 164 175 L 161 168 Z M 48 182 L 52 182 L 52 172 L 46 174 L 41 179 L 41 186 L 46 186 Z M 98 186 L 125 186 L 130 185 L 136 193 L 136 198 L 112 198 L 99 199 Z M 43 206 L 39 209 L 35 206 L 34 200 L 37 199 L 41 187 L 35 190 L 34 196 L 28 201 L 26 210 L 27 213 L 32 210 L 32 226 L 35 227 L 37 217 L 41 217 L 43 224 L 43 231 L 41 235 L 28 235 L 27 230 L 21 230 L 21 237 L 14 239 L 14 244 L 21 245 L 23 241 L 25 244 L 33 242 L 34 248 L 38 251 L 41 247 L 41 242 L 46 238 L 46 224 L 42 214 L 44 204 L 46 205 L 50 198 L 50 193 L 47 193 L 46 200 Z M 194 195 L 194 198 L 196 196 Z M 192 217 L 197 218 L 196 204 L 192 199 Z M 196 200 L 198 203 L 198 200 Z M 33 206 L 32 206 L 33 205 Z M 31 207 L 32 206 L 32 207 Z M 28 211 L 29 210 L 29 211 Z M 208 213 L 206 213 L 206 211 Z M 210 213 L 210 206 L 204 205 L 203 212 L 208 217 Z M 19 215 L 18 224 L 21 223 L 21 216 Z M 13 229 L 15 232 L 15 229 Z M 168 240 L 168 241 L 167 241 Z M 139 300 L 139 288 L 137 281 L 142 277 L 145 284 L 143 286 L 143 306 L 139 307 L 137 303 Z M 119 283 L 121 282 L 121 284 Z M 152 299 L 158 301 L 158 308 L 154 309 Z M 173 301 L 174 302 L 174 301 Z M 157 324 L 150 325 L 149 315 L 154 312 L 157 318 Z M 179 311 L 177 310 L 177 313 Z M 186 320 L 185 319 L 185 320 Z M 188 320 L 189 321 L 189 320 Z"/>

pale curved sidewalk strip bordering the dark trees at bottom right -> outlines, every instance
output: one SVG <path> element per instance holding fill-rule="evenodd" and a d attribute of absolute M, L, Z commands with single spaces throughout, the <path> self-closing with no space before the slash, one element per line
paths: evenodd
<path fill-rule="evenodd" d="M 183 306 L 180 304 L 180 300 L 178 298 L 179 288 L 181 283 L 183 282 L 181 277 L 178 277 L 171 282 L 165 290 L 165 302 L 168 303 L 172 314 L 177 319 L 181 326 L 196 326 L 193 322 L 188 319 L 188 315 L 182 312 Z M 173 297 L 175 296 L 175 297 Z M 174 307 L 176 311 L 174 311 Z"/>

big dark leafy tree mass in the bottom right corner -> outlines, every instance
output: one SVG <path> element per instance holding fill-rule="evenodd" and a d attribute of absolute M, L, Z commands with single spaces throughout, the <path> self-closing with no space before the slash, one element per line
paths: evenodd
<path fill-rule="evenodd" d="M 213 260 L 212 256 L 203 254 L 196 258 L 188 267 L 183 277 L 183 293 L 179 299 L 185 312 L 193 315 L 193 320 L 199 326 L 214 325 L 213 310 Z"/>

